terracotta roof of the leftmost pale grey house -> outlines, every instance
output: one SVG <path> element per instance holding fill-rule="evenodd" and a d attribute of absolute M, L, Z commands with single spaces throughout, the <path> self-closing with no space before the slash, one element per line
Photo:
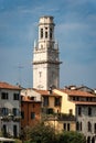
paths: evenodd
<path fill-rule="evenodd" d="M 20 87 L 18 87 L 18 86 L 13 86 L 13 85 L 10 85 L 10 84 L 8 84 L 8 82 L 2 82 L 2 81 L 0 81 L 0 89 L 15 89 L 15 90 L 21 90 L 21 88 Z"/>

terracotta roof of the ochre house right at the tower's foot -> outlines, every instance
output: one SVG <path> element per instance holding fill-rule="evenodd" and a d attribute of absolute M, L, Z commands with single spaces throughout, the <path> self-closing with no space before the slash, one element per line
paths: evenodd
<path fill-rule="evenodd" d="M 34 90 L 42 96 L 61 97 L 61 95 L 57 95 L 56 92 L 53 92 L 53 91 L 52 94 L 50 94 L 49 90 L 38 90 L 38 89 L 34 89 Z"/>

